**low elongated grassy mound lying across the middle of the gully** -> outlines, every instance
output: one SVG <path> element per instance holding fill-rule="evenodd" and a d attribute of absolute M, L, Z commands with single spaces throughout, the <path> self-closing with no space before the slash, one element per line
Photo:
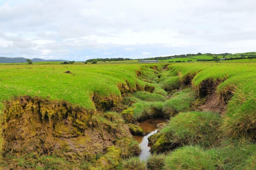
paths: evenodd
<path fill-rule="evenodd" d="M 149 92 L 135 92 L 132 96 L 146 102 L 164 102 L 166 98 L 160 94 L 152 94 Z"/>

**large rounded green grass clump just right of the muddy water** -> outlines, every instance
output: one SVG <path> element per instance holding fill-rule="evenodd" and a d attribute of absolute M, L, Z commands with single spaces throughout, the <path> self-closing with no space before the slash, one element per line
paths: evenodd
<path fill-rule="evenodd" d="M 211 112 L 185 112 L 173 117 L 161 130 L 170 143 L 179 146 L 200 144 L 209 147 L 218 139 L 220 115 Z"/>

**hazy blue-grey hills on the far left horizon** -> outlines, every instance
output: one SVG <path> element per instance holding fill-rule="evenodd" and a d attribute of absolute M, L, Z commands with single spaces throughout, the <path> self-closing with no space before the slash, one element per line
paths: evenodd
<path fill-rule="evenodd" d="M 26 62 L 27 58 L 23 58 L 23 57 L 14 57 L 14 58 L 8 58 L 8 57 L 0 57 L 0 63 L 20 63 L 20 62 Z M 33 58 L 31 59 L 32 62 L 46 62 L 46 61 L 50 61 L 50 62 L 68 62 L 68 60 L 44 60 L 41 58 Z"/>

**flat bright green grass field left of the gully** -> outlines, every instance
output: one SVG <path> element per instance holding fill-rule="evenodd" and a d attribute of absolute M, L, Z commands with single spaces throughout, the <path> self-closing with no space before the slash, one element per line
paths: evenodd
<path fill-rule="evenodd" d="M 130 64 L 0 65 L 0 99 L 3 102 L 14 96 L 42 96 L 92 109 L 94 93 L 101 98 L 118 97 L 118 85 L 125 81 L 129 88 L 136 88 L 139 69 L 139 65 Z M 64 73 L 67 70 L 72 74 Z"/>

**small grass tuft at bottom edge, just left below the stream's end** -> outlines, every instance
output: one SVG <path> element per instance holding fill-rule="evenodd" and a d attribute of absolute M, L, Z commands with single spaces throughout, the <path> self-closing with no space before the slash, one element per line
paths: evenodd
<path fill-rule="evenodd" d="M 138 157 L 132 157 L 122 162 L 120 170 L 146 170 L 146 162 Z"/>

